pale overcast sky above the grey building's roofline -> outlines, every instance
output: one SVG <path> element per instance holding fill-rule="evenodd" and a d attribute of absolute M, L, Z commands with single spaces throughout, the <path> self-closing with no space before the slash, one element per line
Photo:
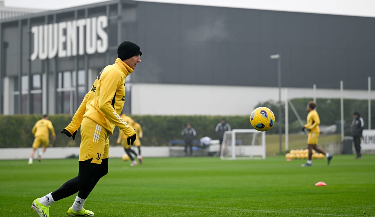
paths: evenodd
<path fill-rule="evenodd" d="M 275 11 L 375 17 L 375 0 L 138 0 L 143 2 L 180 3 Z M 35 9 L 62 9 L 103 0 L 5 0 L 5 6 Z"/>

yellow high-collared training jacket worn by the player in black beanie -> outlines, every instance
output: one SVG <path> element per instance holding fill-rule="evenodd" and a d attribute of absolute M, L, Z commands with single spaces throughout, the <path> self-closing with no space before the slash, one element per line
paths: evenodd
<path fill-rule="evenodd" d="M 132 72 L 133 69 L 120 58 L 113 65 L 106 66 L 96 77 L 65 129 L 73 134 L 80 127 L 82 119 L 87 117 L 105 128 L 110 135 L 117 126 L 127 137 L 133 136 L 135 131 L 119 115 L 125 102 L 125 79 Z"/>

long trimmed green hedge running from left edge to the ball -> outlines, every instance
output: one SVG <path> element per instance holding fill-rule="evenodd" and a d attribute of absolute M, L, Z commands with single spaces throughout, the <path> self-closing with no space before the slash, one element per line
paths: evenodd
<path fill-rule="evenodd" d="M 166 146 L 169 140 L 180 140 L 181 131 L 189 122 L 195 128 L 199 139 L 209 136 L 216 139 L 215 127 L 220 122 L 222 116 L 132 116 L 143 128 L 144 146 Z M 36 121 L 41 119 L 41 115 L 13 115 L 0 116 L 0 148 L 26 148 L 31 147 L 34 136 L 31 133 Z M 52 147 L 72 147 L 80 145 L 80 132 L 76 139 L 72 140 L 60 131 L 70 123 L 71 115 L 49 115 L 49 120 L 55 128 L 56 140 L 51 141 Z M 233 129 L 250 129 L 248 116 L 227 116 L 229 124 Z M 110 136 L 110 145 L 116 146 L 118 128 L 115 128 L 114 134 Z"/>

